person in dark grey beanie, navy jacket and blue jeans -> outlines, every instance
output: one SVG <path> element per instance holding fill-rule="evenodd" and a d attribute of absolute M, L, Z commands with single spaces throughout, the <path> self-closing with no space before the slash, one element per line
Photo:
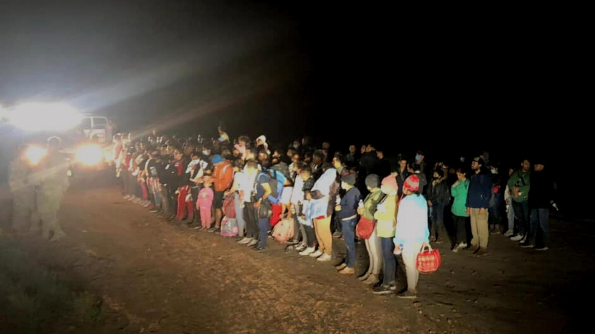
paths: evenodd
<path fill-rule="evenodd" d="M 335 207 L 335 211 L 341 222 L 343 238 L 347 247 L 347 258 L 344 263 L 336 266 L 336 269 L 342 275 L 353 275 L 355 273 L 355 225 L 358 223 L 357 209 L 361 193 L 355 187 L 355 175 L 353 174 L 341 178 L 341 188 L 346 193 L 341 198 L 341 203 Z"/>

